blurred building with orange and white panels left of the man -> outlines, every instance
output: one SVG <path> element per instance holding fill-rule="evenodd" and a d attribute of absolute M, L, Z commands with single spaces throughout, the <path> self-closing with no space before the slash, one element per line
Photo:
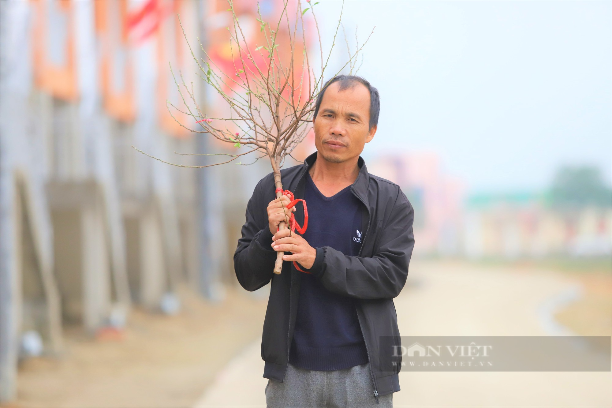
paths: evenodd
<path fill-rule="evenodd" d="M 237 4 L 256 10 L 256 1 Z M 261 6 L 271 13 L 278 1 Z M 181 126 L 195 121 L 180 111 L 185 94 L 175 80 L 189 84 L 201 107 L 215 104 L 194 58 L 203 56 L 198 37 L 209 47 L 220 21 L 225 31 L 225 1 L 0 7 L 0 401 L 7 401 L 18 359 L 40 349 L 24 347 L 34 334 L 43 353 L 57 355 L 62 325 L 89 334 L 120 328 L 133 303 L 172 312 L 181 286 L 222 298 L 223 284 L 236 281 L 232 255 L 246 200 L 271 170 L 265 161 L 181 168 L 132 148 L 182 165 L 214 161 L 180 153 L 223 151 Z"/>

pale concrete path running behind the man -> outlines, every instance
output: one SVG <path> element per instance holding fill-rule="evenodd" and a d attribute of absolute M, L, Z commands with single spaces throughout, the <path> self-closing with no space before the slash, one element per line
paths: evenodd
<path fill-rule="evenodd" d="M 555 302 L 580 284 L 546 271 L 411 263 L 395 299 L 403 336 L 567 334 Z M 571 297 L 571 296 L 570 296 Z M 261 339 L 220 372 L 195 407 L 265 407 Z M 395 407 L 610 407 L 610 372 L 400 372 Z"/>

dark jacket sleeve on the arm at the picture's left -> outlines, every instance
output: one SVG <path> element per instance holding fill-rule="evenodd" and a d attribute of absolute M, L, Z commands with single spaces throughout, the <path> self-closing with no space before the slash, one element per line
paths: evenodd
<path fill-rule="evenodd" d="M 274 263 L 277 252 L 272 249 L 272 233 L 270 232 L 262 184 L 263 178 L 255 186 L 253 195 L 248 200 L 246 221 L 242 225 L 242 237 L 238 240 L 234 252 L 234 271 L 236 278 L 244 289 L 253 292 L 266 285 L 274 274 Z"/>

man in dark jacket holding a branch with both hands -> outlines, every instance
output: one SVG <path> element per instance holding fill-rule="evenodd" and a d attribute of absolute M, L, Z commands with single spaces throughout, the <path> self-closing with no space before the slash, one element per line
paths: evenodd
<path fill-rule="evenodd" d="M 269 407 L 391 407 L 400 390 L 401 356 L 380 347 L 399 342 L 393 298 L 408 276 L 414 210 L 359 156 L 379 107 L 378 91 L 360 77 L 338 75 L 319 93 L 317 151 L 281 170 L 283 188 L 307 203 L 303 236 L 277 232 L 294 208 L 285 195 L 270 201 L 272 173 L 248 202 L 234 270 L 247 290 L 272 280 L 261 342 Z M 303 212 L 294 215 L 303 225 Z M 272 272 L 277 251 L 285 252 L 280 274 Z"/>

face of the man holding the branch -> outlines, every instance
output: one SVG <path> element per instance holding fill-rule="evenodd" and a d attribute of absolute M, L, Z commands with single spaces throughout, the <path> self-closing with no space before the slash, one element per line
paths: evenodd
<path fill-rule="evenodd" d="M 361 83 L 343 91 L 338 88 L 338 82 L 327 87 L 314 121 L 318 155 L 332 163 L 359 157 L 376 133 L 376 126 L 369 129 L 368 88 Z"/>

